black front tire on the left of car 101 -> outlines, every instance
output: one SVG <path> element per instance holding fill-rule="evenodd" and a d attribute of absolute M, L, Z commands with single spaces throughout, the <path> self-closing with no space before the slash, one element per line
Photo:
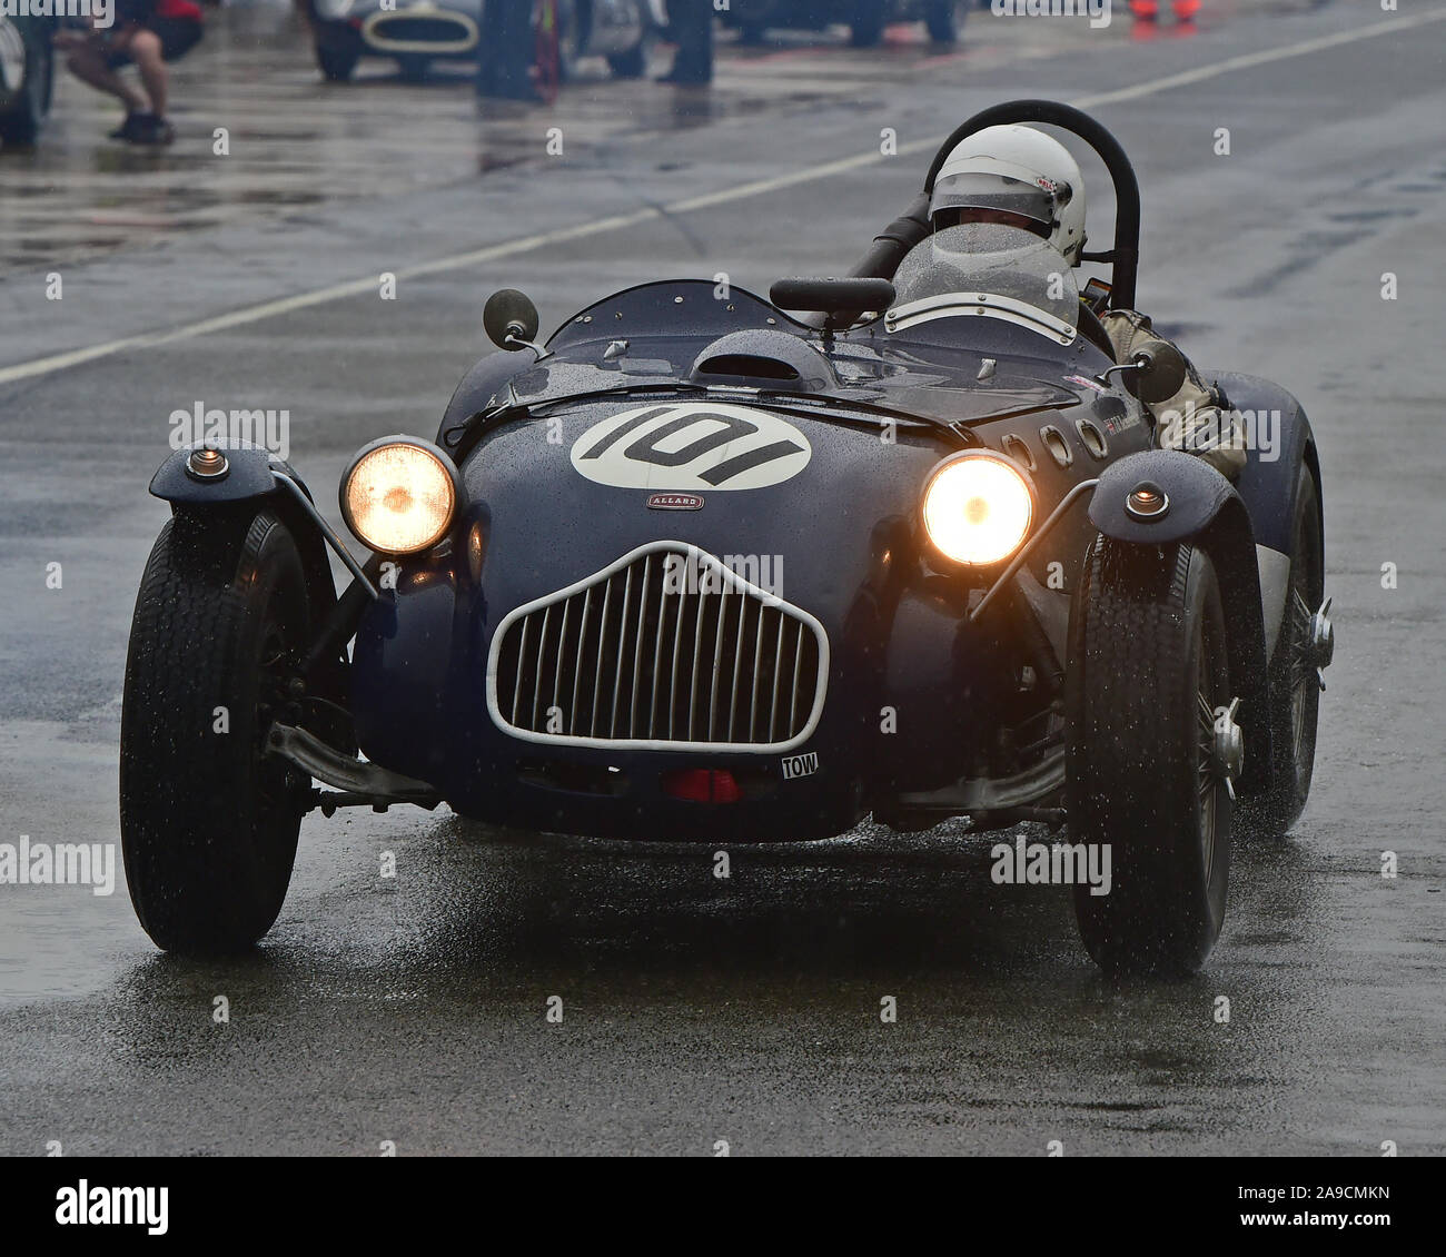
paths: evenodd
<path fill-rule="evenodd" d="M 120 719 L 130 901 L 159 947 L 250 947 L 281 911 L 309 780 L 268 758 L 305 651 L 302 561 L 273 515 L 176 515 L 136 597 Z M 217 707 L 228 729 L 217 732 Z"/>

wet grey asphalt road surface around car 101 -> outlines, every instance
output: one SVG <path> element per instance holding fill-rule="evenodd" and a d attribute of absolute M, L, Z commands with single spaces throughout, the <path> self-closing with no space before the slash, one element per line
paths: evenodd
<path fill-rule="evenodd" d="M 923 140 L 995 100 L 1089 104 L 1141 175 L 1141 305 L 1202 365 L 1293 388 L 1325 464 L 1339 645 L 1314 794 L 1288 840 L 1236 846 L 1200 976 L 1100 978 L 1067 894 L 992 885 L 993 839 L 959 826 L 737 846 L 720 882 L 701 846 L 445 810 L 312 817 L 244 962 L 159 955 L 120 885 L 0 885 L 0 1151 L 1446 1151 L 1446 22 L 1355 39 L 1375 6 L 1239 10 L 1067 55 L 976 19 L 960 56 L 894 48 L 823 103 L 790 84 L 857 55 L 804 43 L 746 107 L 732 87 L 717 106 L 664 95 L 636 129 L 599 84 L 560 106 L 578 136 L 562 158 L 539 152 L 554 116 L 521 114 L 506 126 L 538 152 L 482 178 L 473 162 L 367 194 L 356 176 L 301 214 L 93 242 L 67 253 L 61 302 L 35 229 L 36 259 L 0 285 L 0 842 L 114 842 L 126 634 L 165 518 L 145 485 L 172 409 L 289 408 L 292 459 L 330 506 L 359 444 L 434 430 L 493 288 L 526 288 L 548 327 L 661 273 L 756 291 L 826 273 L 908 198 Z M 276 74 L 302 75 L 292 61 Z M 364 126 L 402 143 L 385 110 Z M 476 123 L 457 126 L 476 156 Z M 870 161 L 882 127 L 918 150 Z M 347 140 L 359 162 L 366 135 Z M 0 161 L 0 195 L 27 169 Z M 1098 236 L 1105 201 L 1096 179 Z M 545 233 L 570 234 L 508 243 Z"/>

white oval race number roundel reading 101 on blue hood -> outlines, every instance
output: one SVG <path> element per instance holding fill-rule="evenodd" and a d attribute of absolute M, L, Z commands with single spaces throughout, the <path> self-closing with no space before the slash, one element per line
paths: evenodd
<path fill-rule="evenodd" d="M 573 466 L 599 485 L 697 493 L 781 485 L 811 456 L 808 438 L 778 415 L 716 402 L 623 411 L 573 446 Z"/>

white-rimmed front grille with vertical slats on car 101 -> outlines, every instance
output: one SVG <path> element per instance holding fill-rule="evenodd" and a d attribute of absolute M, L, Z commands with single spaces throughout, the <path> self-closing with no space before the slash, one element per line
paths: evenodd
<path fill-rule="evenodd" d="M 529 741 L 788 749 L 823 710 L 807 612 L 683 542 L 654 542 L 518 608 L 487 664 L 497 723 Z"/>

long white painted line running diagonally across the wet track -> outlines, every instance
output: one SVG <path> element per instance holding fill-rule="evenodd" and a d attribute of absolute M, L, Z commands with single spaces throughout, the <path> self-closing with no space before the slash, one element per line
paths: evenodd
<path fill-rule="evenodd" d="M 1145 95 L 1158 95 L 1164 91 L 1171 91 L 1178 87 L 1189 87 L 1190 84 L 1205 82 L 1206 80 L 1219 78 L 1225 74 L 1233 74 L 1238 69 L 1252 69 L 1258 65 L 1270 65 L 1277 61 L 1288 61 L 1296 56 L 1309 56 L 1313 52 L 1323 52 L 1329 48 L 1339 48 L 1346 43 L 1356 43 L 1362 39 L 1374 39 L 1378 35 L 1392 35 L 1400 30 L 1410 30 L 1417 26 L 1424 26 L 1430 22 L 1446 20 L 1446 10 L 1439 10 L 1434 13 L 1419 13 L 1406 17 L 1392 17 L 1384 22 L 1374 22 L 1369 26 L 1362 26 L 1356 30 L 1342 30 L 1335 35 L 1323 35 L 1316 39 L 1306 39 L 1300 43 L 1288 43 L 1284 48 L 1265 49 L 1262 52 L 1248 52 L 1241 56 L 1231 56 L 1225 61 L 1218 61 L 1213 65 L 1202 65 L 1196 69 L 1180 71 L 1178 74 L 1168 74 L 1163 78 L 1151 78 L 1145 82 L 1135 84 L 1134 87 L 1122 87 L 1113 91 L 1096 93 L 1093 95 L 1080 97 L 1071 101 L 1079 108 L 1095 108 L 1102 104 L 1118 104 L 1125 100 L 1139 100 Z M 911 140 L 908 143 L 899 145 L 899 153 L 915 153 L 937 148 L 943 143 L 944 136 L 930 136 L 927 139 Z M 750 197 L 762 197 L 768 192 L 778 191 L 779 188 L 791 188 L 798 184 L 810 184 L 817 179 L 829 179 L 834 175 L 844 174 L 847 171 L 855 171 L 862 166 L 870 166 L 875 162 L 882 161 L 882 155 L 876 152 L 859 153 L 853 158 L 842 158 L 834 162 L 823 162 L 817 166 L 805 166 L 801 171 L 794 171 L 788 175 L 777 175 L 769 179 L 756 179 L 750 184 L 739 184 L 737 187 L 727 188 L 719 192 L 707 192 L 701 197 L 690 197 L 683 201 L 674 201 L 672 204 L 662 205 L 661 208 L 648 207 L 643 210 L 635 210 L 629 214 L 615 214 L 610 218 L 597 218 L 594 221 L 583 223 L 577 227 L 564 227 L 557 231 L 542 231 L 536 236 L 522 236 L 516 240 L 505 240 L 500 244 L 489 244 L 484 249 L 473 249 L 467 253 L 453 253 L 447 257 L 435 257 L 431 262 L 419 262 L 414 266 L 401 268 L 396 272 L 398 282 L 405 279 L 415 279 L 421 275 L 435 275 L 444 270 L 455 270 L 466 266 L 477 266 L 483 262 L 493 262 L 497 257 L 513 257 L 518 253 L 529 253 L 534 249 L 545 249 L 549 244 L 561 244 L 568 240 L 580 240 L 587 236 L 603 236 L 609 231 L 620 231 L 628 227 L 635 227 L 639 223 L 646 223 L 654 218 L 665 218 L 675 214 L 688 214 L 697 210 L 711 208 L 713 205 L 726 205 L 733 201 L 745 201 Z M 227 314 L 218 314 L 213 318 L 204 318 L 198 323 L 189 323 L 184 327 L 172 327 L 161 331 L 143 333 L 140 336 L 130 336 L 123 340 L 107 340 L 101 344 L 87 346 L 85 349 L 72 349 L 65 353 L 49 354 L 48 357 L 32 359 L 30 362 L 16 363 L 14 366 L 0 367 L 0 385 L 13 383 L 14 380 L 32 379 L 35 376 L 52 375 L 58 370 L 65 370 L 67 367 L 81 366 L 87 362 L 95 362 L 97 359 L 110 357 L 117 353 L 124 353 L 126 350 L 136 349 L 152 349 L 161 344 L 174 344 L 178 340 L 192 340 L 198 336 L 208 336 L 213 331 L 226 331 L 233 327 L 244 327 L 250 323 L 260 323 L 266 318 L 275 318 L 282 314 L 291 314 L 296 310 L 307 310 L 312 305 L 321 305 L 328 301 L 340 301 L 347 297 L 360 297 L 364 292 L 373 292 L 376 289 L 376 276 L 366 276 L 364 279 L 351 279 L 346 284 L 333 284 L 328 288 L 317 288 L 311 292 L 301 292 L 295 297 L 282 297 L 276 301 L 263 301 L 259 305 L 244 305 L 239 310 L 233 310 Z"/>

